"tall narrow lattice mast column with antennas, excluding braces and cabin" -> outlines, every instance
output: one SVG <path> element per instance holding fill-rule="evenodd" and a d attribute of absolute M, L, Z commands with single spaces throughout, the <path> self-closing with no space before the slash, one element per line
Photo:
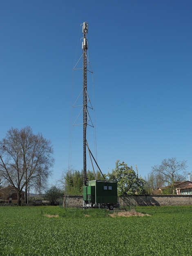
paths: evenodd
<path fill-rule="evenodd" d="M 88 23 L 83 22 L 82 33 L 83 33 L 83 183 L 87 185 L 87 163 L 86 163 L 86 130 L 87 130 L 87 32 Z"/>

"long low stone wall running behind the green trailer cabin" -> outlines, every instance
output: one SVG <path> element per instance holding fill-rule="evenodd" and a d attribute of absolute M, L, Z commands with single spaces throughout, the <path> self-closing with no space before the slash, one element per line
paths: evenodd
<path fill-rule="evenodd" d="M 83 207 L 82 195 L 68 195 L 66 207 Z M 161 206 L 192 204 L 192 195 L 134 195 L 120 196 L 120 206 Z"/>

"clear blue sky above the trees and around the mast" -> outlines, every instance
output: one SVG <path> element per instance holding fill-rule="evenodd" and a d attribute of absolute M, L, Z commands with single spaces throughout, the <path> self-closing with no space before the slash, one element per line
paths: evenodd
<path fill-rule="evenodd" d="M 191 0 L 0 1 L 0 139 L 25 126 L 50 139 L 51 184 L 83 168 L 83 128 L 70 127 L 86 21 L 103 173 L 120 159 L 145 177 L 170 157 L 192 172 L 191 13 Z"/>

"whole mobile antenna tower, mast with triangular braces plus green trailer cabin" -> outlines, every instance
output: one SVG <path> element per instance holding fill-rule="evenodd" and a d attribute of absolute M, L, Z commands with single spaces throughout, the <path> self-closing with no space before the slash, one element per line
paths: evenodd
<path fill-rule="evenodd" d="M 83 90 L 80 95 L 83 94 L 83 106 L 81 106 L 81 111 L 78 117 L 83 112 L 83 207 L 98 207 L 113 210 L 114 207 L 118 207 L 118 198 L 117 198 L 117 182 L 116 181 L 108 181 L 105 179 L 105 176 L 101 172 L 96 159 L 94 158 L 91 150 L 89 149 L 86 133 L 87 133 L 87 125 L 93 126 L 91 117 L 89 115 L 89 109 L 92 108 L 91 101 L 89 100 L 89 95 L 87 93 L 87 72 L 92 71 L 89 70 L 90 64 L 89 59 L 87 58 L 87 49 L 88 49 L 88 41 L 87 41 L 87 32 L 88 32 L 88 23 L 83 22 L 82 33 L 83 33 L 83 42 L 82 42 L 82 58 L 83 58 Z M 82 38 L 81 38 L 82 39 Z M 78 62 L 80 61 L 79 58 Z M 73 70 L 82 69 L 76 68 L 78 62 L 76 63 Z M 89 68 L 88 68 L 89 66 Z M 78 99 L 80 97 L 78 96 Z M 76 105 L 78 99 L 76 100 L 74 107 L 80 107 L 78 104 Z M 78 119 L 76 118 L 74 125 Z M 82 123 L 81 123 L 82 124 Z M 95 180 L 87 180 L 87 159 L 86 159 L 86 150 L 89 154 L 90 162 L 92 164 L 93 172 Z M 96 172 L 94 171 L 94 163 L 96 164 L 98 170 L 100 171 L 103 178 L 99 177 L 97 180 Z"/>

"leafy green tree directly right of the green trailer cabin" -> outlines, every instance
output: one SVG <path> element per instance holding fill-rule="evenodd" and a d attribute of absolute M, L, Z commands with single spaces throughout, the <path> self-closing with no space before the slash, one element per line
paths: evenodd
<path fill-rule="evenodd" d="M 109 180 L 117 180 L 118 195 L 134 195 L 143 193 L 145 181 L 138 177 L 132 166 L 127 166 L 120 160 L 116 161 L 116 167 L 109 174 Z"/>

